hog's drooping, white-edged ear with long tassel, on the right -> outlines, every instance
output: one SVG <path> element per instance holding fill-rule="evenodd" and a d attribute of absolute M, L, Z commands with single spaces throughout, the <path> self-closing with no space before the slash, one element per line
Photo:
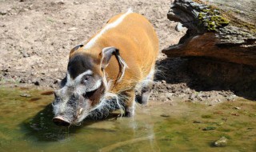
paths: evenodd
<path fill-rule="evenodd" d="M 121 81 L 123 75 L 125 74 L 125 70 L 128 67 L 126 65 L 126 62 L 122 59 L 121 55 L 119 54 L 119 50 L 115 47 L 105 47 L 102 50 L 102 53 L 99 54 L 100 58 L 101 58 L 101 68 L 102 70 L 104 70 L 106 68 L 106 66 L 109 65 L 110 62 L 110 58 L 112 57 L 112 55 L 115 56 L 115 58 L 118 60 L 118 65 L 119 65 L 119 69 L 120 69 L 120 75 L 118 78 L 118 82 Z"/>

